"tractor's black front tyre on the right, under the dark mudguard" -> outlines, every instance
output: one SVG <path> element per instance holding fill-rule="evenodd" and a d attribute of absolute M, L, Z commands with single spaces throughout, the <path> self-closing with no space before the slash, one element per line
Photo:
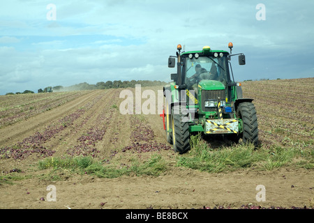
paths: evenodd
<path fill-rule="evenodd" d="M 242 119 L 242 133 L 239 138 L 244 144 L 258 144 L 258 126 L 255 106 L 251 102 L 242 102 L 237 109 L 237 117 Z"/>

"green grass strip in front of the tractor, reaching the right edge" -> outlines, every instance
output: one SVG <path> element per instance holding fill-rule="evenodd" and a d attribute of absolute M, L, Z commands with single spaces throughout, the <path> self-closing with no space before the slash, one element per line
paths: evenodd
<path fill-rule="evenodd" d="M 212 149 L 200 139 L 200 135 L 190 137 L 191 150 L 177 157 L 177 166 L 217 173 L 254 168 L 273 170 L 280 167 L 301 167 L 313 169 L 313 150 L 299 147 L 273 146 L 255 149 L 251 144 L 236 144 Z M 295 162 L 295 159 L 301 159 Z"/>

